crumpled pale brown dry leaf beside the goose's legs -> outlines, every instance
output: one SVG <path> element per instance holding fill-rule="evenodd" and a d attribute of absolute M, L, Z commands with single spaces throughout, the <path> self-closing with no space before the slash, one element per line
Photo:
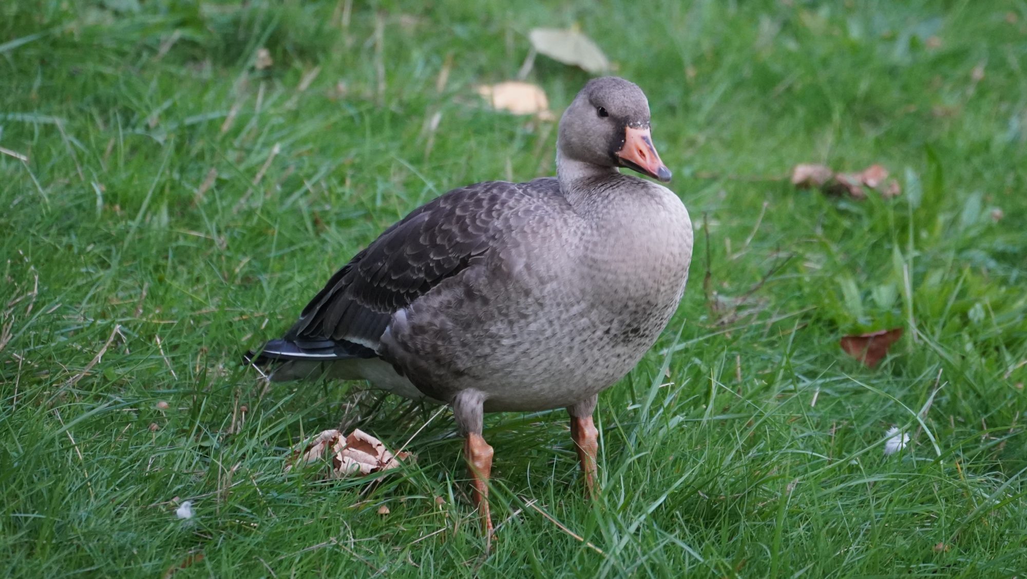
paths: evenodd
<path fill-rule="evenodd" d="M 332 455 L 332 478 L 388 470 L 410 457 L 407 452 L 393 455 L 381 440 L 360 429 L 353 429 L 346 436 L 331 429 L 315 436 L 302 452 L 294 453 L 286 464 L 286 472 L 292 470 L 297 462 L 309 464 L 321 460 L 327 454 Z"/>

